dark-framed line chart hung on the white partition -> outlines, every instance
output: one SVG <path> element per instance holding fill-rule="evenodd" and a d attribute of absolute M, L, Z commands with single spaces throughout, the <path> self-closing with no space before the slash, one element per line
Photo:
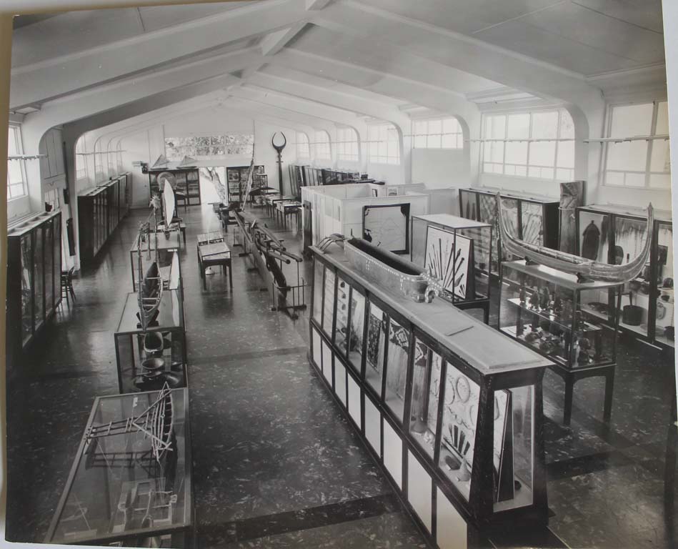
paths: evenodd
<path fill-rule="evenodd" d="M 409 203 L 363 206 L 362 237 L 394 254 L 408 254 Z"/>

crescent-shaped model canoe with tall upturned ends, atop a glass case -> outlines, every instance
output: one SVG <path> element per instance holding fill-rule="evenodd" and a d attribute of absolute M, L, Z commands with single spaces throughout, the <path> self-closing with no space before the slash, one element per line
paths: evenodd
<path fill-rule="evenodd" d="M 530 262 L 576 274 L 579 280 L 598 280 L 622 284 L 636 278 L 649 258 L 649 251 L 652 246 L 652 227 L 654 227 L 652 204 L 647 206 L 647 232 L 643 248 L 637 257 L 622 265 L 601 263 L 539 244 L 528 244 L 509 234 L 506 219 L 504 219 L 502 197 L 499 193 L 497 193 L 497 209 L 499 209 L 499 231 L 502 234 L 502 244 L 510 253 L 523 257 Z"/>

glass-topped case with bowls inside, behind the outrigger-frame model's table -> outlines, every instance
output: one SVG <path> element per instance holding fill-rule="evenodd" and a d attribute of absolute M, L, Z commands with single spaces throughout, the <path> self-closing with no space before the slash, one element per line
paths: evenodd
<path fill-rule="evenodd" d="M 155 390 L 165 381 L 170 387 L 186 387 L 186 331 L 180 290 L 164 290 L 156 322 L 146 333 L 139 325 L 138 312 L 136 292 L 127 294 L 114 334 L 120 392 Z"/>

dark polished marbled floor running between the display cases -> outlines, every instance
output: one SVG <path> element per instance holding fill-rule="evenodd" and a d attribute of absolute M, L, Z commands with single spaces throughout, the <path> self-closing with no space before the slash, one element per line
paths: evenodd
<path fill-rule="evenodd" d="M 61 305 L 41 345 L 9 376 L 9 540 L 43 540 L 92 401 L 117 392 L 112 332 L 131 291 L 128 250 L 141 217 L 124 220 L 76 280 L 76 300 Z M 241 257 L 233 260 L 233 290 L 216 274 L 203 291 L 195 237 L 216 229 L 216 217 L 205 205 L 184 219 L 196 546 L 427 546 L 309 367 L 307 317 L 271 312 L 268 292 Z M 296 230 L 266 222 L 298 246 Z M 307 268 L 302 275 L 310 280 Z M 602 422 L 602 379 L 582 380 L 572 425 L 563 427 L 562 381 L 547 372 L 553 534 L 514 528 L 489 535 L 492 545 L 675 547 L 673 375 L 671 357 L 624 342 L 612 422 Z"/>

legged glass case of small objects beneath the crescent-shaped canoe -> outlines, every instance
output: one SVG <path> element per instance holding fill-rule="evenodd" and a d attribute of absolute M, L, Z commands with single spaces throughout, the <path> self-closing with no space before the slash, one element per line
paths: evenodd
<path fill-rule="evenodd" d="M 565 424 L 572 412 L 572 387 L 582 377 L 606 378 L 604 418 L 612 412 L 612 383 L 617 363 L 616 330 L 600 314 L 589 314 L 592 304 L 608 293 L 621 299 L 622 285 L 579 282 L 576 275 L 524 260 L 502 264 L 499 330 L 553 362 L 566 383 Z M 614 307 L 612 315 L 614 314 Z M 628 309 L 625 310 L 628 312 Z M 616 327 L 613 320 L 612 327 Z"/>

